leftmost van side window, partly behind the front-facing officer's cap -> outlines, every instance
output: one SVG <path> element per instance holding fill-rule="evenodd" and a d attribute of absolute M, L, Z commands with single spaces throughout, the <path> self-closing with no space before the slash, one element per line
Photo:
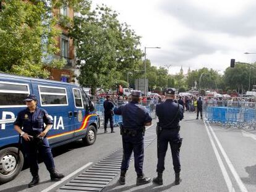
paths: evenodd
<path fill-rule="evenodd" d="M 27 84 L 0 81 L 0 106 L 25 106 L 23 101 L 30 94 Z"/>

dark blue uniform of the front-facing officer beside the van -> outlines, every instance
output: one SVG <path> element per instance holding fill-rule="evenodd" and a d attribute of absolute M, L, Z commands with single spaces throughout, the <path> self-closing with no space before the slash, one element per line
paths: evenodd
<path fill-rule="evenodd" d="M 23 127 L 23 131 L 28 133 L 33 137 L 36 137 L 45 129 L 44 124 L 53 124 L 52 120 L 49 118 L 47 112 L 44 109 L 36 107 L 35 112 L 30 112 L 27 108 L 20 111 L 14 125 Z M 38 162 L 37 162 L 37 151 L 43 157 L 46 168 L 51 171 L 55 168 L 53 161 L 53 154 L 51 153 L 51 148 L 49 147 L 48 139 L 45 137 L 38 143 L 38 140 L 25 141 L 22 138 L 22 146 L 27 154 L 28 163 L 30 165 L 30 172 L 33 177 L 38 176 Z"/>

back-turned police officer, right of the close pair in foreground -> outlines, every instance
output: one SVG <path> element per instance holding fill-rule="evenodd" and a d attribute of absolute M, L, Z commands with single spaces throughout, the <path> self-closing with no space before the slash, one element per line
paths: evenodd
<path fill-rule="evenodd" d="M 156 106 L 156 115 L 159 119 L 156 127 L 158 138 L 158 164 L 156 172 L 158 172 L 158 177 L 153 178 L 153 182 L 158 185 L 163 185 L 164 158 L 168 149 L 168 143 L 171 146 L 171 154 L 173 156 L 175 184 L 179 185 L 181 182 L 179 177 L 181 172 L 179 151 L 182 139 L 179 137 L 179 121 L 183 119 L 183 107 L 174 102 L 175 91 L 175 89 L 168 88 L 166 90 L 166 101 Z"/>

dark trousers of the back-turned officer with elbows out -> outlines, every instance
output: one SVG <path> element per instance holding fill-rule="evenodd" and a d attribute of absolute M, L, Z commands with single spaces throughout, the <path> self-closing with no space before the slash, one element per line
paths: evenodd
<path fill-rule="evenodd" d="M 121 170 L 128 170 L 130 156 L 132 156 L 132 151 L 134 152 L 134 167 L 137 175 L 141 175 L 143 173 L 143 160 L 144 160 L 144 141 L 142 133 L 137 136 L 122 136 L 122 144 L 123 144 L 123 157 L 122 157 L 122 165 Z"/>

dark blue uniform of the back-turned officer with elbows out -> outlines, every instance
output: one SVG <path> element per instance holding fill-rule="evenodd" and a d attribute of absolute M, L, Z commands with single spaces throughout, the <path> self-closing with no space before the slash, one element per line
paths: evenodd
<path fill-rule="evenodd" d="M 122 135 L 124 156 L 122 159 L 121 170 L 125 171 L 129 167 L 130 156 L 134 151 L 134 164 L 137 175 L 143 172 L 143 127 L 145 123 L 151 122 L 150 114 L 147 109 L 140 106 L 138 102 L 131 101 L 114 109 L 114 114 L 122 115 L 123 128 L 128 131 Z M 135 134 L 129 134 L 135 131 Z"/>

